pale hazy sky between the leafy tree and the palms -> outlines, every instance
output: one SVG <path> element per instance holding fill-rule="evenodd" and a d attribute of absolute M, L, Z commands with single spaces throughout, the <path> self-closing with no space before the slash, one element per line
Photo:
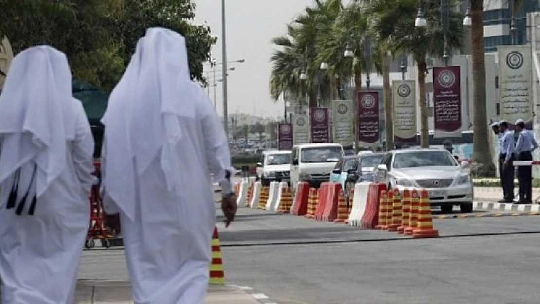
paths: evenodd
<path fill-rule="evenodd" d="M 218 63 L 221 56 L 221 0 L 194 0 L 195 24 L 207 23 L 218 42 L 212 48 L 212 58 Z M 227 77 L 228 113 L 247 113 L 261 117 L 283 115 L 283 100 L 274 102 L 268 90 L 272 70 L 270 57 L 274 50 L 272 38 L 284 35 L 286 25 L 293 21 L 312 0 L 226 0 L 226 45 L 227 62 L 245 59 L 244 63 L 230 64 L 234 71 Z M 208 71 L 211 71 L 210 65 Z M 219 70 L 221 67 L 218 66 Z M 213 74 L 210 76 L 212 82 Z M 216 79 L 221 79 L 217 72 Z M 216 89 L 217 111 L 222 107 L 222 83 Z M 214 99 L 210 87 L 210 99 Z"/>

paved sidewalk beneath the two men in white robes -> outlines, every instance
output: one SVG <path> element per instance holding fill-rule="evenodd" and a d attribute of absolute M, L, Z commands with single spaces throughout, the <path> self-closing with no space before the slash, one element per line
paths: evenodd
<path fill-rule="evenodd" d="M 75 304 L 128 304 L 131 299 L 131 286 L 126 281 L 79 280 Z M 208 287 L 205 304 L 259 304 L 251 295 L 235 287 Z"/>

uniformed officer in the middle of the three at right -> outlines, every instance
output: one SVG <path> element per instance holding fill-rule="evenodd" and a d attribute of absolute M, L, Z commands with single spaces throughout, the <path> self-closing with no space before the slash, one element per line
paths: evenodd
<path fill-rule="evenodd" d="M 508 122 L 499 122 L 499 167 L 501 168 L 501 187 L 503 199 L 499 202 L 514 201 L 514 132 L 508 129 Z"/>

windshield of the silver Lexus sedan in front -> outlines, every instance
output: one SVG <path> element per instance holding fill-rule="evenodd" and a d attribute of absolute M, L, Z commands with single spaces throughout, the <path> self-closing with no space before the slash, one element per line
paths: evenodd
<path fill-rule="evenodd" d="M 394 168 L 456 167 L 456 159 L 447 151 L 396 153 Z"/>

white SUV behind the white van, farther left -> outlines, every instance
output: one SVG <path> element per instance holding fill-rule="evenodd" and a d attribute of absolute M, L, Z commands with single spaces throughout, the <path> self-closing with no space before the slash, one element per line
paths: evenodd
<path fill-rule="evenodd" d="M 257 163 L 257 180 L 263 186 L 272 181 L 291 182 L 291 151 L 262 152 L 261 162 Z"/>

